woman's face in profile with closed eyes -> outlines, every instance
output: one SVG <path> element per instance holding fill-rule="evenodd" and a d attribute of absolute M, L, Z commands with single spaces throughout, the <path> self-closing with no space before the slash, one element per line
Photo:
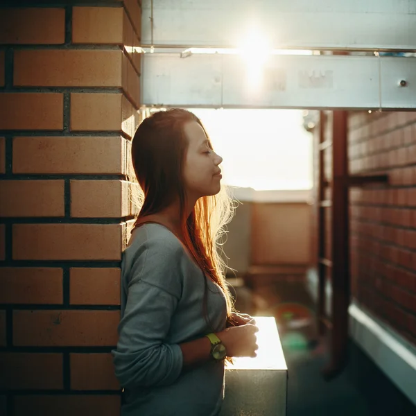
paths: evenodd
<path fill-rule="evenodd" d="M 221 189 L 221 170 L 218 165 L 223 158 L 209 146 L 204 129 L 196 121 L 184 125 L 189 145 L 184 157 L 184 182 L 191 198 L 216 195 Z"/>

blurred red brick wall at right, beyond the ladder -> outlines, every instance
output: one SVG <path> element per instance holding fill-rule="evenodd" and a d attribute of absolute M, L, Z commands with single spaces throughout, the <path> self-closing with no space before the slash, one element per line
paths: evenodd
<path fill-rule="evenodd" d="M 416 345 L 416 112 L 349 115 L 353 174 L 390 184 L 352 189 L 352 295 Z"/>

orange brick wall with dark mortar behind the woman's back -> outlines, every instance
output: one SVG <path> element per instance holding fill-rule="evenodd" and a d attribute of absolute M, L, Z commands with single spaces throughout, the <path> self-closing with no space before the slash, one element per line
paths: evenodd
<path fill-rule="evenodd" d="M 0 415 L 114 416 L 141 9 L 16 3 L 0 9 Z"/>

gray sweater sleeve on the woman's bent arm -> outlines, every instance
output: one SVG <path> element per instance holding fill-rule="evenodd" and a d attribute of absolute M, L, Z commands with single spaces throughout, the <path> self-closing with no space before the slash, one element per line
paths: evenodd
<path fill-rule="evenodd" d="M 124 388 L 173 383 L 182 371 L 182 350 L 165 340 L 181 294 L 180 257 L 168 243 L 147 241 L 132 264 L 128 296 L 112 352 Z"/>

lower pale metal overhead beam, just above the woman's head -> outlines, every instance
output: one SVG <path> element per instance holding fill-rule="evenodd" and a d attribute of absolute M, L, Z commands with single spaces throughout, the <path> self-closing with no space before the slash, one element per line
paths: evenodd
<path fill-rule="evenodd" d="M 253 71 L 255 67 L 240 55 L 180 58 L 146 53 L 142 102 L 217 108 L 416 109 L 416 58 L 270 55 L 257 82 Z"/>

